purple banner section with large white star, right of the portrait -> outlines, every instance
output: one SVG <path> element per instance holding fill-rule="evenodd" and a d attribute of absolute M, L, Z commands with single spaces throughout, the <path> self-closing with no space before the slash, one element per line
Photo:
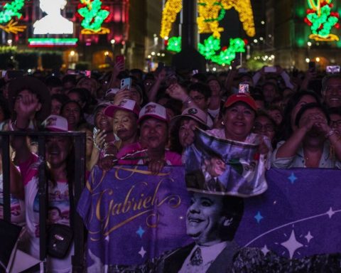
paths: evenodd
<path fill-rule="evenodd" d="M 271 169 L 269 189 L 245 202 L 236 240 L 287 258 L 341 252 L 341 171 Z"/>

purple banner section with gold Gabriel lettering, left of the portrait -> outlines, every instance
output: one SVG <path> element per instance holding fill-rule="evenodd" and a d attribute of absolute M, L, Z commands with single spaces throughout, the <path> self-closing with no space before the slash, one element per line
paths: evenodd
<path fill-rule="evenodd" d="M 77 206 L 87 228 L 88 272 L 143 264 L 191 242 L 183 167 L 153 176 L 146 166 L 94 167 Z"/>

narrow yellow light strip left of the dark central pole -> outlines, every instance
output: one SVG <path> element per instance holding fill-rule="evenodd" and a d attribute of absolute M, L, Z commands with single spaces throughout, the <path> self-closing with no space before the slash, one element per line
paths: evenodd
<path fill-rule="evenodd" d="M 165 8 L 162 11 L 162 21 L 161 21 L 161 38 L 169 36 L 171 32 L 172 25 L 176 19 L 178 13 L 183 9 L 182 0 L 168 0 Z"/>

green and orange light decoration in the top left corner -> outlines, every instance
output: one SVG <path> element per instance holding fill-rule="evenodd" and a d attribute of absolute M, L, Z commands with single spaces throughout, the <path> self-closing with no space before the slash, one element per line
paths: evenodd
<path fill-rule="evenodd" d="M 0 25 L 0 28 L 8 33 L 18 33 L 25 30 L 26 26 L 18 26 L 18 21 L 14 21 L 13 17 L 20 20 L 22 14 L 20 13 L 24 5 L 24 0 L 14 0 L 4 4 L 4 10 L 0 11 L 0 23 L 7 23 Z"/>

